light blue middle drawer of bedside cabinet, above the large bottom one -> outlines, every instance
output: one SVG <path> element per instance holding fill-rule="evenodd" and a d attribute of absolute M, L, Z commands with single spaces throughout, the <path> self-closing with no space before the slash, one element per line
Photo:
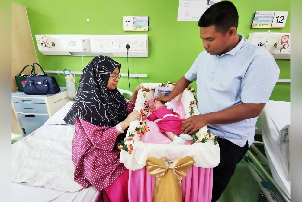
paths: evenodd
<path fill-rule="evenodd" d="M 46 104 L 14 103 L 16 113 L 47 114 Z"/>

